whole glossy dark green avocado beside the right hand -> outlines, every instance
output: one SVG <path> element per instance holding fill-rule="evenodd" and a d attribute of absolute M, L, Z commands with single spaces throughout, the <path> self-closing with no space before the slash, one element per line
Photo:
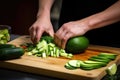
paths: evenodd
<path fill-rule="evenodd" d="M 65 50 L 68 53 L 82 53 L 89 46 L 89 40 L 85 36 L 72 37 L 67 41 Z"/>

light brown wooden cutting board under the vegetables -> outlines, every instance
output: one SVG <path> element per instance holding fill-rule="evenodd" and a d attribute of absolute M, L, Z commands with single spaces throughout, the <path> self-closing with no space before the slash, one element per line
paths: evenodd
<path fill-rule="evenodd" d="M 31 42 L 30 37 L 25 35 L 9 42 L 9 44 L 19 46 L 29 42 Z M 0 61 L 0 67 L 68 80 L 101 80 L 101 78 L 106 75 L 106 68 L 113 63 L 120 63 L 120 48 L 90 45 L 84 53 L 74 55 L 72 59 L 87 60 L 90 56 L 97 55 L 99 52 L 115 53 L 118 54 L 118 56 L 106 67 L 90 71 L 66 69 L 64 65 L 70 59 L 53 57 L 41 58 L 28 56 L 26 54 L 19 59 Z"/>

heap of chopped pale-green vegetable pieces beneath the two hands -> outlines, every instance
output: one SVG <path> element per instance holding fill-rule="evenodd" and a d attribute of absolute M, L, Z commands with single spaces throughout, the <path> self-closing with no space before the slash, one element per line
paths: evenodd
<path fill-rule="evenodd" d="M 46 58 L 51 57 L 65 57 L 72 58 L 71 53 L 66 53 L 64 49 L 57 47 L 54 44 L 54 40 L 50 36 L 42 36 L 41 40 L 37 44 L 27 43 L 26 45 L 21 45 L 25 48 L 27 55 L 34 55 L 38 57 Z"/>

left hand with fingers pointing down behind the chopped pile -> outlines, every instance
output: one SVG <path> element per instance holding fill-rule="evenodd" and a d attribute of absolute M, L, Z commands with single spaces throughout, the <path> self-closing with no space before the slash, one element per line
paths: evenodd
<path fill-rule="evenodd" d="M 43 33 L 53 37 L 54 30 L 50 18 L 46 16 L 39 17 L 36 22 L 29 28 L 29 33 L 33 43 L 37 43 Z"/>

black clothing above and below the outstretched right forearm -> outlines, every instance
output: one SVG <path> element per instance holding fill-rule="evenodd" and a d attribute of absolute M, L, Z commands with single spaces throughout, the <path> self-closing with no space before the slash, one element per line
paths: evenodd
<path fill-rule="evenodd" d="M 59 26 L 101 12 L 118 0 L 63 0 Z M 120 47 L 120 22 L 88 31 L 90 44 Z"/>

